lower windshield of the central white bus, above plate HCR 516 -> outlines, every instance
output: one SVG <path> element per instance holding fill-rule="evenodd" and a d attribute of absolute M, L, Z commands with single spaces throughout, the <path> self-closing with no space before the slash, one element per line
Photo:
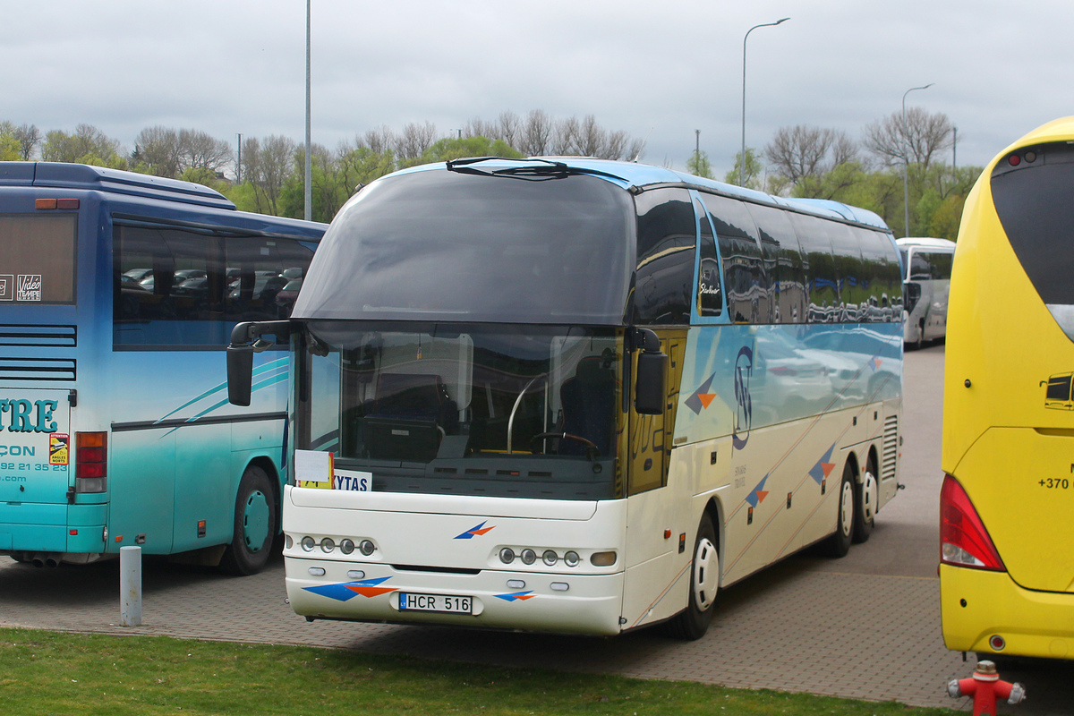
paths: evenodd
<path fill-rule="evenodd" d="M 621 334 L 310 322 L 296 447 L 333 450 L 377 492 L 611 498 Z"/>

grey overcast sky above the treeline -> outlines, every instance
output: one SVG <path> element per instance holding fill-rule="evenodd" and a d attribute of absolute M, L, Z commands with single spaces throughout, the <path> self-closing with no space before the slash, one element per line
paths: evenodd
<path fill-rule="evenodd" d="M 147 127 L 305 140 L 304 0 L 0 0 L 0 120 L 130 150 Z M 313 0 L 313 141 L 543 109 L 683 169 L 811 125 L 945 113 L 958 165 L 1074 114 L 1072 0 Z M 950 157 L 947 158 L 949 162 Z"/>

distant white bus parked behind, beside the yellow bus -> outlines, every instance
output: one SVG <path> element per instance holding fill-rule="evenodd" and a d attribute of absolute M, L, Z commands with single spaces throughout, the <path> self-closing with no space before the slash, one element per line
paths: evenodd
<path fill-rule="evenodd" d="M 947 334 L 947 294 L 955 242 L 946 238 L 898 238 L 902 254 L 902 340 L 920 348 Z"/>

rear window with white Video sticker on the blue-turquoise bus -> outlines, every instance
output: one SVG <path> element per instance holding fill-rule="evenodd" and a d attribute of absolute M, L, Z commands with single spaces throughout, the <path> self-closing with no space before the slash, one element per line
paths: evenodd
<path fill-rule="evenodd" d="M 74 214 L 0 217 L 0 306 L 73 304 Z"/>

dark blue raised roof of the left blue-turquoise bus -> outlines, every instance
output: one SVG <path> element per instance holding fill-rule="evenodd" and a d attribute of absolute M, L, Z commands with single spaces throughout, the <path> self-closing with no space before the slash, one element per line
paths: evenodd
<path fill-rule="evenodd" d="M 235 209 L 235 205 L 227 196 L 200 184 L 87 164 L 0 162 L 0 187 L 48 187 L 108 191 L 214 208 Z"/>

